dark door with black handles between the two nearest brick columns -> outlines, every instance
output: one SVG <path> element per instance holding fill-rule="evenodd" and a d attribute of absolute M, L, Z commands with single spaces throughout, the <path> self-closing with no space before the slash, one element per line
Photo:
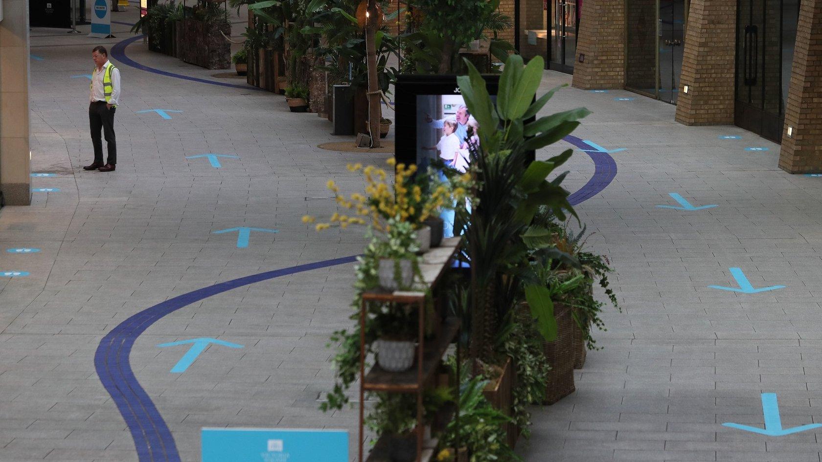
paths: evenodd
<path fill-rule="evenodd" d="M 734 122 L 776 142 L 782 139 L 798 16 L 798 0 L 737 3 Z"/>

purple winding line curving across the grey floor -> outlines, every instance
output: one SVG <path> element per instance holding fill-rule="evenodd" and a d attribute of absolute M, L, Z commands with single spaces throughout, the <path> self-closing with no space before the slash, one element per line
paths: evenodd
<path fill-rule="evenodd" d="M 163 76 L 171 76 L 190 81 L 201 81 L 213 85 L 235 86 L 243 89 L 252 88 L 242 85 L 205 81 L 145 67 L 127 58 L 124 53 L 127 44 L 140 38 L 141 36 L 137 36 L 115 44 L 111 49 L 112 57 L 117 58 L 118 61 L 129 66 L 155 72 Z M 613 178 L 617 175 L 617 163 L 614 162 L 614 159 L 607 153 L 592 150 L 591 146 L 584 143 L 580 138 L 569 135 L 566 136 L 564 140 L 589 155 L 591 159 L 593 159 L 595 168 L 593 177 L 585 183 L 579 191 L 568 196 L 568 201 L 570 201 L 572 205 L 577 205 L 598 194 L 598 192 L 602 192 L 603 189 L 612 182 Z M 163 318 L 163 316 L 219 293 L 224 293 L 231 289 L 238 289 L 248 284 L 279 278 L 284 275 L 293 275 L 303 271 L 319 270 L 330 266 L 353 263 L 356 259 L 356 256 L 345 256 L 333 260 L 317 261 L 316 263 L 308 263 L 306 265 L 266 271 L 256 275 L 210 285 L 189 293 L 183 293 L 174 298 L 169 298 L 169 300 L 163 303 L 158 303 L 153 307 L 138 312 L 111 330 L 109 334 L 100 341 L 97 347 L 97 351 L 95 352 L 95 369 L 100 382 L 102 382 L 105 389 L 109 392 L 114 403 L 117 404 L 122 418 L 126 421 L 129 431 L 132 432 L 137 457 L 140 462 L 181 461 L 177 445 L 174 443 L 174 437 L 169 430 L 169 426 L 165 423 L 154 402 L 140 385 L 140 382 L 137 381 L 137 377 L 132 370 L 129 355 L 132 353 L 132 347 L 137 337 L 156 321 Z"/>

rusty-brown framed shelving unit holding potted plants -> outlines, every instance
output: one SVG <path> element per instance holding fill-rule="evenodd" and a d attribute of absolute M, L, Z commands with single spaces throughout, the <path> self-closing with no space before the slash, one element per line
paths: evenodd
<path fill-rule="evenodd" d="M 360 307 L 360 406 L 359 406 L 359 461 L 384 462 L 388 458 L 383 450 L 383 441 L 377 441 L 372 453 L 367 459 L 363 459 L 363 420 L 365 417 L 365 393 L 366 391 L 381 391 L 387 393 L 413 393 L 417 395 L 417 461 L 427 462 L 431 460 L 436 450 L 436 441 L 423 440 L 423 392 L 427 384 L 430 383 L 437 367 L 442 362 L 448 346 L 452 344 L 459 335 L 460 323 L 455 317 L 443 317 L 441 313 L 435 316 L 441 320 L 436 325 L 436 335 L 431 340 L 425 339 L 426 326 L 426 293 L 433 293 L 437 282 L 442 275 L 450 269 L 451 262 L 459 249 L 461 238 L 446 238 L 442 240 L 441 246 L 432 248 L 423 254 L 420 262 L 420 273 L 422 281 L 418 283 L 412 291 L 371 291 L 363 293 L 363 303 Z M 416 307 L 418 310 L 418 347 L 414 365 L 405 372 L 387 372 L 378 364 L 374 364 L 366 373 L 365 371 L 365 320 L 369 303 L 395 303 Z M 459 344 L 457 348 L 459 367 Z M 455 413 L 455 416 L 458 413 Z"/>

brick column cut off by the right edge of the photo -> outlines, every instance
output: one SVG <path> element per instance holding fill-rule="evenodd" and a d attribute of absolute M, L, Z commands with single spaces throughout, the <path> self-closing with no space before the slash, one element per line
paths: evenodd
<path fill-rule="evenodd" d="M 799 9 L 779 168 L 822 172 L 822 0 L 802 0 Z"/>

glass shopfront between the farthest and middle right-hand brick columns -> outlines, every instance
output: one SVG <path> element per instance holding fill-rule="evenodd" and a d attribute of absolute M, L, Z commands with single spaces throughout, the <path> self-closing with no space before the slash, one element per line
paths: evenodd
<path fill-rule="evenodd" d="M 676 104 L 687 0 L 628 0 L 626 89 Z"/>

